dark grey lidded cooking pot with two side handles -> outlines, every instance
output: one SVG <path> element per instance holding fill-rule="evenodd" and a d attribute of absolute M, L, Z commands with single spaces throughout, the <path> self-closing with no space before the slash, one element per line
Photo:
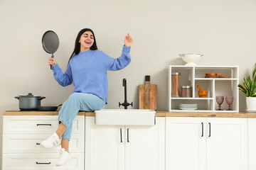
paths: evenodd
<path fill-rule="evenodd" d="M 37 111 L 38 107 L 41 106 L 41 100 L 46 97 L 33 96 L 33 94 L 28 93 L 26 96 L 16 96 L 19 100 L 19 108 L 21 111 Z"/>

